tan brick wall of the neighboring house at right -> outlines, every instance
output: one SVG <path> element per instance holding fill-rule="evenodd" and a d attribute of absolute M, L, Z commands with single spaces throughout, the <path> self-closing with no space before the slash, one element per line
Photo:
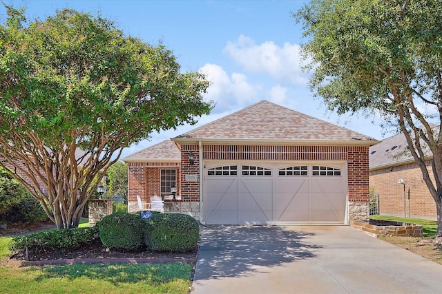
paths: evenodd
<path fill-rule="evenodd" d="M 434 180 L 431 161 L 427 160 L 425 165 Z M 403 185 L 398 184 L 399 179 L 405 181 L 405 215 L 408 216 L 410 207 L 411 217 L 436 218 L 436 204 L 416 163 L 369 172 L 369 187 L 374 189 L 375 196 L 379 195 L 381 214 L 404 216 Z"/>

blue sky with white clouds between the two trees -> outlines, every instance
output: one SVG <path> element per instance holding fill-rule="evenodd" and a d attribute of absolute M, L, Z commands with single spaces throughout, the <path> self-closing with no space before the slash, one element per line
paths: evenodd
<path fill-rule="evenodd" d="M 202 71 L 211 86 L 206 99 L 216 102 L 198 125 L 268 100 L 378 140 L 384 134 L 378 123 L 363 116 L 337 116 L 314 99 L 302 72 L 299 45 L 302 26 L 291 12 L 308 1 L 21 1 L 28 20 L 45 19 L 63 8 L 73 8 L 115 21 L 126 34 L 146 43 L 161 41 L 172 50 L 183 72 Z M 6 13 L 0 6 L 0 21 Z M 197 126 L 198 126 L 197 125 Z M 122 157 L 173 138 L 195 126 L 182 126 L 152 134 L 124 150 Z"/>

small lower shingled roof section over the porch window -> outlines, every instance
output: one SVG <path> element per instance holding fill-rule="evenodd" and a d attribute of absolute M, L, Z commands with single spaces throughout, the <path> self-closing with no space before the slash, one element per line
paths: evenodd
<path fill-rule="evenodd" d="M 171 140 L 164 140 L 123 158 L 124 162 L 181 162 L 181 153 Z"/>

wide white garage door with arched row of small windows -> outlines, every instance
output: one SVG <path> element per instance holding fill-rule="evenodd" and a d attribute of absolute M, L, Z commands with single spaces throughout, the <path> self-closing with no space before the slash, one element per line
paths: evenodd
<path fill-rule="evenodd" d="M 207 224 L 343 224 L 345 162 L 205 162 Z"/>

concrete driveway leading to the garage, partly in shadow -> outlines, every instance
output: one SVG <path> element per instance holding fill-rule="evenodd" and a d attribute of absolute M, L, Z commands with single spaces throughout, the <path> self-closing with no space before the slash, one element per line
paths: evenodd
<path fill-rule="evenodd" d="M 442 293 L 442 266 L 349 226 L 209 226 L 192 294 Z"/>

